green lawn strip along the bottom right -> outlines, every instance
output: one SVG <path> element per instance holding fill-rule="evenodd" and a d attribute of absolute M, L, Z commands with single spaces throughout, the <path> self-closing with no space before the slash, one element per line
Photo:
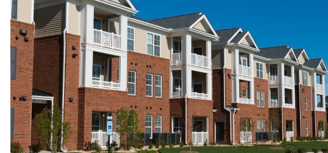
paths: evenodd
<path fill-rule="evenodd" d="M 306 141 L 306 142 L 283 142 L 286 144 L 295 145 L 293 146 L 286 146 L 282 147 L 284 149 L 292 148 L 293 150 L 297 150 L 298 147 L 304 147 L 306 148 L 306 151 L 311 151 L 311 147 L 317 147 L 319 150 L 321 150 L 322 147 L 328 147 L 327 141 Z M 270 146 L 271 147 L 271 146 Z M 256 152 L 284 152 L 284 150 L 273 150 L 269 149 L 269 146 L 194 146 L 192 147 L 193 151 L 197 151 L 199 153 L 214 153 L 214 152 L 250 152 L 250 153 L 256 153 Z M 177 153 L 180 151 L 186 151 L 189 150 L 189 147 L 176 147 L 176 148 L 164 148 L 159 149 L 161 153 Z"/>

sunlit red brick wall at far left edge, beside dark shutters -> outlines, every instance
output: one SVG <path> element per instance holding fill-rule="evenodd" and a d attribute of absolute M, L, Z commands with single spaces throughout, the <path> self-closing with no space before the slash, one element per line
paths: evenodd
<path fill-rule="evenodd" d="M 34 28 L 33 24 L 10 20 L 10 46 L 17 47 L 16 79 L 10 79 L 10 107 L 15 108 L 14 141 L 18 141 L 24 151 L 28 151 L 31 142 Z M 19 34 L 20 29 L 27 30 L 28 42 L 24 41 L 24 35 Z M 19 100 L 22 95 L 27 100 Z M 13 96 L 17 99 L 14 100 Z"/>

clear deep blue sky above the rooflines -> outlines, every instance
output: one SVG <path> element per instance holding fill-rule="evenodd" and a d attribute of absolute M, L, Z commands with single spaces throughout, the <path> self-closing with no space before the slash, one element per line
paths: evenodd
<path fill-rule="evenodd" d="M 305 48 L 310 59 L 328 64 L 328 1 L 181 1 L 131 0 L 137 17 L 150 20 L 202 12 L 214 30 L 240 27 L 249 30 L 257 46 L 289 45 Z M 328 66 L 328 65 L 327 65 Z M 328 93 L 328 75 L 325 75 Z"/>

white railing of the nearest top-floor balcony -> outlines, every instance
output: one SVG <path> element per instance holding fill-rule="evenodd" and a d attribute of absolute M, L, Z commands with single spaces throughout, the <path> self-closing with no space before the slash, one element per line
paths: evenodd
<path fill-rule="evenodd" d="M 100 46 L 120 49 L 121 36 L 114 33 L 93 29 L 93 43 Z"/>

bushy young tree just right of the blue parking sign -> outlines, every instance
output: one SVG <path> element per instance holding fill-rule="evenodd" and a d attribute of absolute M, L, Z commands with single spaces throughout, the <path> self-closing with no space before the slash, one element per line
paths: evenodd
<path fill-rule="evenodd" d="M 139 129 L 138 113 L 134 110 L 125 110 L 123 108 L 117 111 L 117 130 L 121 142 L 124 142 L 124 149 L 130 150 L 132 144 L 143 144 L 141 136 L 142 130 Z"/>

